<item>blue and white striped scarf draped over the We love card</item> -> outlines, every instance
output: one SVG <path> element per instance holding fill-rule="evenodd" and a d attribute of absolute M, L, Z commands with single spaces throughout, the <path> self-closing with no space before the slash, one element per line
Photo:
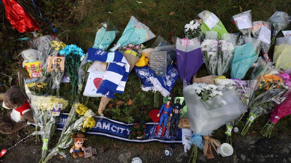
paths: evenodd
<path fill-rule="evenodd" d="M 129 75 L 129 63 L 122 53 L 105 52 L 100 49 L 89 48 L 88 60 L 110 62 L 104 73 L 103 82 L 96 93 L 105 95 L 110 99 L 116 98 L 114 93 L 123 93 L 127 77 Z"/>

